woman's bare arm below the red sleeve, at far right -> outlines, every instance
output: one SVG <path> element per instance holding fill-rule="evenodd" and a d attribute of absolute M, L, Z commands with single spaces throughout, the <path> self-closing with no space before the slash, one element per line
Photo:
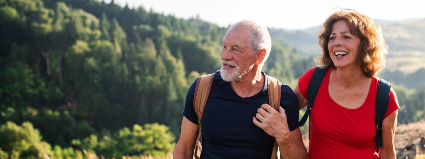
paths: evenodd
<path fill-rule="evenodd" d="M 379 151 L 380 159 L 396 159 L 396 150 L 394 148 L 394 135 L 396 134 L 398 110 L 391 113 L 382 120 L 382 143 Z"/>

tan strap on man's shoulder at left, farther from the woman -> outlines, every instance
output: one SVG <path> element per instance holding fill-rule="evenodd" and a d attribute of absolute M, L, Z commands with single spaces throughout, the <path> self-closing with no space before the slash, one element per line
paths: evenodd
<path fill-rule="evenodd" d="M 198 149 L 202 149 L 199 138 L 201 137 L 201 120 L 202 115 L 204 114 L 204 108 L 207 104 L 208 95 L 210 95 L 211 85 L 212 81 L 214 79 L 215 73 L 211 73 L 209 75 L 202 75 L 199 77 L 198 82 L 196 83 L 195 87 L 195 95 L 193 96 L 193 109 L 195 109 L 196 116 L 198 116 L 198 124 L 199 124 L 199 130 L 198 130 L 198 137 L 196 139 L 195 143 L 195 151 L 193 154 L 193 157 L 195 159 L 200 159 L 200 152 L 198 152 Z M 199 154 L 198 154 L 199 153 Z"/>

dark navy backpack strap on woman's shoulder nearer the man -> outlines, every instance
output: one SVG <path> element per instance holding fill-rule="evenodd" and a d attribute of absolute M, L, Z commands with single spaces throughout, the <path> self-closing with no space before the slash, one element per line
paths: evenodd
<path fill-rule="evenodd" d="M 317 92 L 319 91 L 320 85 L 322 84 L 323 78 L 325 77 L 325 74 L 328 69 L 329 66 L 323 68 L 317 67 L 316 70 L 314 70 L 313 72 L 312 78 L 310 78 L 309 87 L 307 87 L 307 100 L 309 101 L 309 104 L 307 105 L 306 113 L 300 120 L 300 127 L 304 126 L 307 121 L 307 118 L 310 115 L 310 110 L 313 108 L 314 99 L 316 98 Z"/>

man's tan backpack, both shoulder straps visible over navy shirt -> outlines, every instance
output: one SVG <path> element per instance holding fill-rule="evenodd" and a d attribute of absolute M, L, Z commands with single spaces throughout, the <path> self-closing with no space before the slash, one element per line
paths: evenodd
<path fill-rule="evenodd" d="M 217 71 L 218 72 L 218 71 Z M 207 104 L 208 95 L 210 95 L 212 81 L 214 79 L 215 73 L 209 75 L 202 75 L 198 78 L 198 82 L 195 87 L 195 95 L 193 96 L 193 108 L 195 109 L 196 115 L 198 116 L 198 138 L 196 139 L 194 158 L 200 159 L 201 156 L 201 142 L 199 138 L 201 137 L 201 121 L 202 115 L 204 114 L 204 108 Z M 269 91 L 269 103 L 270 106 L 279 111 L 280 107 L 280 82 L 278 79 L 273 78 L 267 75 L 267 87 Z M 278 143 L 275 140 L 275 145 L 273 146 L 272 159 L 276 159 L 278 153 Z"/>

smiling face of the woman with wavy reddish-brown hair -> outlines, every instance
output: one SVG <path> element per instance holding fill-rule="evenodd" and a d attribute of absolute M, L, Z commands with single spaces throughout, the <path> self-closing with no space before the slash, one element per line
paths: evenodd
<path fill-rule="evenodd" d="M 348 24 L 344 20 L 332 25 L 328 49 L 335 67 L 358 67 L 359 46 L 360 38 L 350 33 Z"/>

